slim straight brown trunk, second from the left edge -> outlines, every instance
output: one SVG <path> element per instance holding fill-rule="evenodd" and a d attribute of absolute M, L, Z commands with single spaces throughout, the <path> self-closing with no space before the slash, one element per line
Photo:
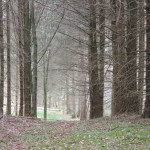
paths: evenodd
<path fill-rule="evenodd" d="M 11 115 L 11 65 L 10 65 L 10 1 L 6 2 L 7 12 L 7 115 Z"/>

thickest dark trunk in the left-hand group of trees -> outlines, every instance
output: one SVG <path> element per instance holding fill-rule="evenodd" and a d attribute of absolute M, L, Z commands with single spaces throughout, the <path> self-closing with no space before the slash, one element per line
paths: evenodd
<path fill-rule="evenodd" d="M 30 116 L 31 107 L 31 52 L 30 52 L 30 18 L 29 0 L 23 1 L 24 9 L 24 101 L 25 116 Z"/>

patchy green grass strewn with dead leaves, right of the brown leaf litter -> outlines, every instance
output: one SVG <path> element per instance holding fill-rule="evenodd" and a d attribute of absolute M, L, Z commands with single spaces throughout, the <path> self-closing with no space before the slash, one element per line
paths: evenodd
<path fill-rule="evenodd" d="M 28 129 L 30 130 L 30 129 Z M 32 127 L 34 133 L 24 134 L 29 145 L 40 149 L 55 150 L 149 150 L 150 126 L 131 124 L 122 121 L 97 120 L 91 124 L 76 124 L 67 131 L 57 126 Z"/>

